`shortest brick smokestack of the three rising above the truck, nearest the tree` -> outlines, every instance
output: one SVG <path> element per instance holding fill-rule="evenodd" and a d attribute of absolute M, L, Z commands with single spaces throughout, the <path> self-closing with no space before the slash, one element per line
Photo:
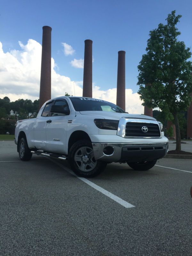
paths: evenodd
<path fill-rule="evenodd" d="M 118 52 L 116 105 L 125 110 L 125 51 Z"/>

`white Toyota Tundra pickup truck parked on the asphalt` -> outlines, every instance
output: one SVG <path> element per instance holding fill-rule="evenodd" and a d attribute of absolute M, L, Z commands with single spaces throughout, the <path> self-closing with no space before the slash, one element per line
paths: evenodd
<path fill-rule="evenodd" d="M 66 96 L 45 102 L 36 118 L 18 121 L 15 143 L 21 160 L 32 154 L 68 160 L 83 177 L 98 175 L 112 162 L 146 171 L 168 151 L 155 118 L 128 114 L 105 100 Z"/>

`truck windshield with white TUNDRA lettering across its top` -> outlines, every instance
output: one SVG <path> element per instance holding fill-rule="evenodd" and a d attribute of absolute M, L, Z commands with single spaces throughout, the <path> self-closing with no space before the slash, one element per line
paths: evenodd
<path fill-rule="evenodd" d="M 113 103 L 105 100 L 92 98 L 69 97 L 76 111 L 109 111 L 116 113 L 126 113 Z"/>

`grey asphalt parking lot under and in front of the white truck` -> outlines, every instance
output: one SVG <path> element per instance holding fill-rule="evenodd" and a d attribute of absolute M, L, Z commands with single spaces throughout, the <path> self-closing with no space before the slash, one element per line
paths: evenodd
<path fill-rule="evenodd" d="M 147 172 L 108 164 L 92 179 L 67 162 L 19 160 L 0 141 L 0 255 L 191 256 L 192 160 Z"/>

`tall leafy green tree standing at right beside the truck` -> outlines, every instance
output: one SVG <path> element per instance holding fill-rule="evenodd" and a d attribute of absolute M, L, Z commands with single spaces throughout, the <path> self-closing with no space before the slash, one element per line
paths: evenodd
<path fill-rule="evenodd" d="M 159 107 L 166 119 L 176 127 L 176 150 L 181 150 L 178 113 L 187 110 L 191 102 L 192 63 L 190 48 L 178 41 L 176 28 L 181 15 L 168 14 L 167 24 L 160 23 L 150 31 L 146 54 L 142 56 L 138 70 L 138 93 L 143 105 Z M 149 86 L 144 87 L 145 84 Z"/>

